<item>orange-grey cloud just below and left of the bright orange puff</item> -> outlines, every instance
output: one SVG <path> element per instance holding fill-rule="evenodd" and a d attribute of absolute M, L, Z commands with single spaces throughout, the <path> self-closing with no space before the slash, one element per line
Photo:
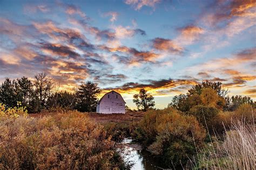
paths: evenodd
<path fill-rule="evenodd" d="M 178 46 L 171 39 L 155 38 L 152 40 L 152 46 L 159 51 L 166 51 L 174 54 L 181 54 L 184 52 L 184 48 Z"/>

